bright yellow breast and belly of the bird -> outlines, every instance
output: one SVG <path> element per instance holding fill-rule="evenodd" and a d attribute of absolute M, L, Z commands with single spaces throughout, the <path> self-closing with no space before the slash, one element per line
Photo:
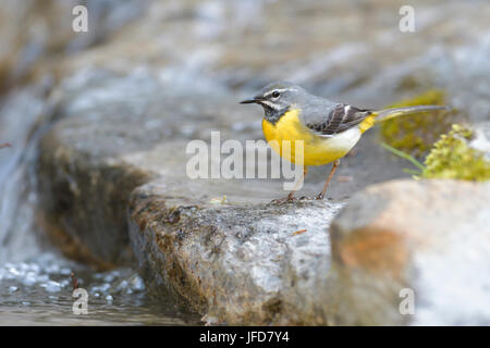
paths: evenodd
<path fill-rule="evenodd" d="M 303 157 L 304 165 L 322 165 L 333 162 L 347 154 L 360 138 L 358 127 L 333 137 L 316 135 L 301 122 L 298 109 L 287 111 L 275 124 L 264 119 L 262 130 L 275 152 L 298 164 Z M 303 151 L 301 151 L 302 144 Z"/>

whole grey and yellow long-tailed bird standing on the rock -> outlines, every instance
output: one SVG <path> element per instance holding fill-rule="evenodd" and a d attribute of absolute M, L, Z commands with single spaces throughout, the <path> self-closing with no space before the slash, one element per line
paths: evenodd
<path fill-rule="evenodd" d="M 310 165 L 332 163 L 332 169 L 316 199 L 323 199 L 340 164 L 375 124 L 405 114 L 449 110 L 443 105 L 415 105 L 369 110 L 315 96 L 290 82 L 273 82 L 255 97 L 241 101 L 264 108 L 262 132 L 271 148 L 295 163 L 296 140 L 303 140 L 303 182 Z M 289 141 L 286 141 L 289 140 Z M 289 142 L 285 145 L 285 142 Z M 294 200 L 296 188 L 284 201 Z M 281 201 L 281 200 L 274 200 Z"/>

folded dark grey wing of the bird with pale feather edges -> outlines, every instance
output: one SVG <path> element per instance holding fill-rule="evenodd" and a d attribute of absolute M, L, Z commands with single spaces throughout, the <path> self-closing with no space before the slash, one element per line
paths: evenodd
<path fill-rule="evenodd" d="M 320 136 L 333 136 L 358 125 L 369 114 L 371 114 L 369 110 L 357 109 L 348 104 L 336 104 L 323 114 L 317 114 L 309 120 L 305 117 L 305 124 Z"/>

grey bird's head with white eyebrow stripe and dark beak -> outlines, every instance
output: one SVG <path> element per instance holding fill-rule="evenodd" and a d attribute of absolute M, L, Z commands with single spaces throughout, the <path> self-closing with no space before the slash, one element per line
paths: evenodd
<path fill-rule="evenodd" d="M 303 87 L 289 82 L 274 82 L 264 87 L 254 98 L 241 101 L 242 104 L 257 103 L 264 108 L 265 117 L 274 124 L 291 108 L 298 107 L 311 98 Z"/>

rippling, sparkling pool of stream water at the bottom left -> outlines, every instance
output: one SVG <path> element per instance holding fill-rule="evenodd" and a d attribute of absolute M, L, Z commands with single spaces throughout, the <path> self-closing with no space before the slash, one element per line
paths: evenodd
<path fill-rule="evenodd" d="M 87 314 L 73 310 L 72 272 L 88 293 Z M 131 269 L 95 273 L 50 252 L 25 262 L 3 263 L 0 298 L 0 325 L 199 324 L 196 315 L 148 297 L 143 281 Z"/>

